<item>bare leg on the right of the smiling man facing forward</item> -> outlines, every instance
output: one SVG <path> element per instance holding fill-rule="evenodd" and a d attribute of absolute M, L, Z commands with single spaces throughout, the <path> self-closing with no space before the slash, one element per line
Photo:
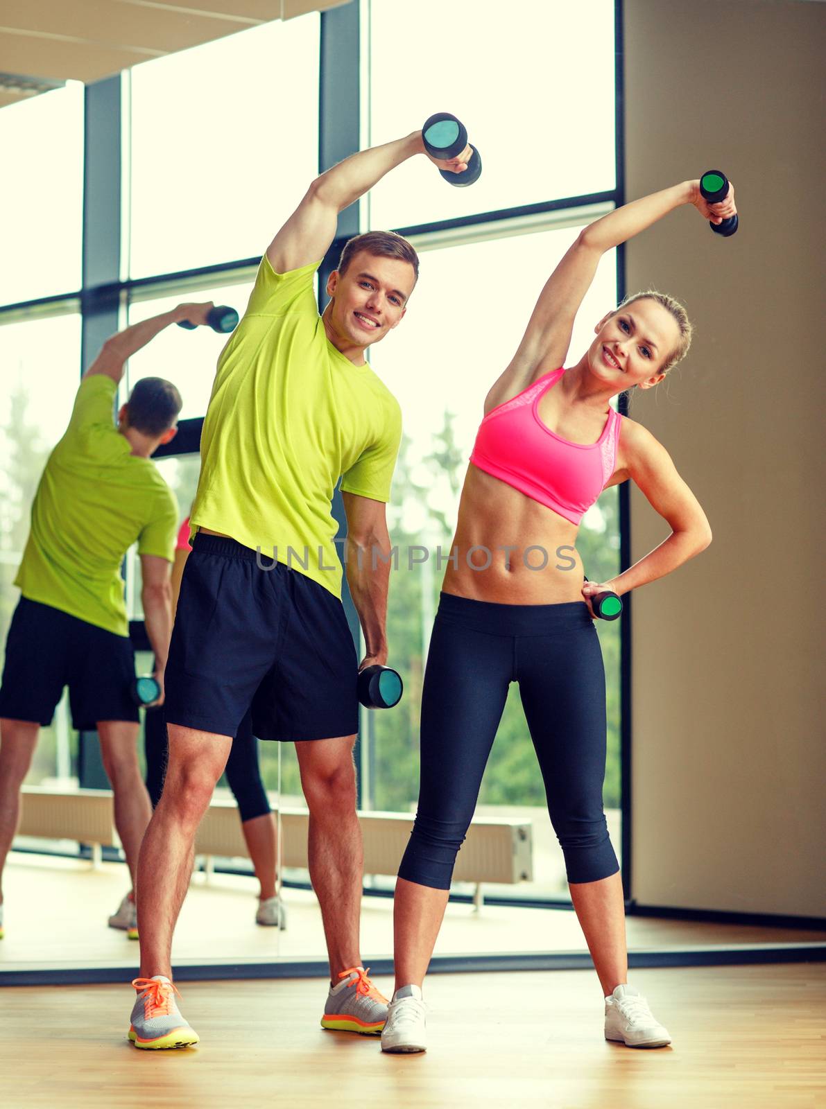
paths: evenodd
<path fill-rule="evenodd" d="M 295 744 L 301 785 L 310 808 L 310 879 L 324 922 L 330 980 L 361 966 L 361 915 L 364 854 L 355 813 L 354 735 Z"/>

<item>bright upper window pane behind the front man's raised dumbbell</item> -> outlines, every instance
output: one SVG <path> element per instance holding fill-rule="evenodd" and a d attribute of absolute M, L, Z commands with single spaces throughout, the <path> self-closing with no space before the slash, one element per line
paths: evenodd
<path fill-rule="evenodd" d="M 615 186 L 614 3 L 370 0 L 370 142 L 453 112 L 484 172 L 451 189 L 416 159 L 371 193 L 373 227 L 598 193 Z M 421 118 L 420 118 L 421 116 Z"/>

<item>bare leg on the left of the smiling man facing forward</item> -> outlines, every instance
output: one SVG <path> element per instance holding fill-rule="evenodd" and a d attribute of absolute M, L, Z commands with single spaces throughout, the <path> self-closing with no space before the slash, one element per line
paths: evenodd
<path fill-rule="evenodd" d="M 172 933 L 192 873 L 195 832 L 232 746 L 231 735 L 178 724 L 169 724 L 168 731 L 167 780 L 138 863 L 142 978 L 172 978 Z"/>

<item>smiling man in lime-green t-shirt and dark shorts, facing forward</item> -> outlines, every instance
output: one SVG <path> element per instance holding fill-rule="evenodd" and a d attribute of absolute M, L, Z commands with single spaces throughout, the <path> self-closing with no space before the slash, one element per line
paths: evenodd
<path fill-rule="evenodd" d="M 424 154 L 421 132 L 354 154 L 313 182 L 261 260 L 218 364 L 167 668 L 169 766 L 139 864 L 141 978 L 129 1031 L 137 1047 L 198 1041 L 171 985 L 172 932 L 195 831 L 250 708 L 255 735 L 295 742 L 330 956 L 322 1025 L 379 1035 L 386 1017 L 359 949 L 359 662 L 340 599 L 331 499 L 341 476 L 361 665 L 383 664 L 385 503 L 401 413 L 364 353 L 401 323 L 419 260 L 399 235 L 356 236 L 326 283 L 321 316 L 313 279 L 339 212 L 415 154 Z M 431 159 L 456 173 L 467 160 L 470 147 L 450 162 Z"/>

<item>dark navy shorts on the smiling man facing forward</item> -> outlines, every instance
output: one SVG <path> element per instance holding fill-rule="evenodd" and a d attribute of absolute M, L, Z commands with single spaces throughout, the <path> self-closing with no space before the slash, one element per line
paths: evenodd
<path fill-rule="evenodd" d="M 251 709 L 261 740 L 353 735 L 357 670 L 338 597 L 234 539 L 195 536 L 167 663 L 167 723 L 235 735 Z"/>

